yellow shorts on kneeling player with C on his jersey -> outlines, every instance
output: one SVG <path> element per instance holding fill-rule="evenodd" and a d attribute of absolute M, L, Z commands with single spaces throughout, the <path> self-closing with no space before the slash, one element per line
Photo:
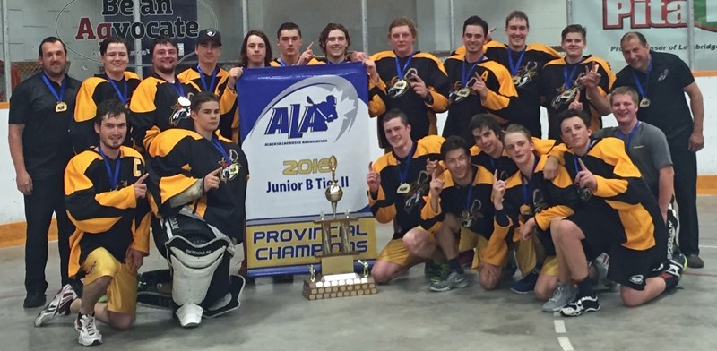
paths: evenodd
<path fill-rule="evenodd" d="M 84 285 L 102 277 L 112 278 L 107 288 L 108 311 L 134 314 L 137 307 L 137 275 L 129 265 L 117 261 L 115 256 L 100 247 L 87 255 L 82 262 L 82 270 L 86 274 L 82 279 Z"/>

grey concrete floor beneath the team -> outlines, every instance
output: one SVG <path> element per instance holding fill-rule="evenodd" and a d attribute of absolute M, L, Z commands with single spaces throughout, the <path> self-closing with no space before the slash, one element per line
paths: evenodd
<path fill-rule="evenodd" d="M 576 319 L 540 312 L 532 295 L 504 283 L 486 292 L 471 286 L 428 291 L 422 266 L 379 288 L 377 295 L 308 302 L 303 278 L 272 285 L 260 278 L 245 289 L 237 312 L 183 330 L 169 312 L 139 307 L 133 330 L 99 325 L 102 349 L 118 350 L 714 350 L 717 349 L 717 196 L 698 198 L 706 268 L 689 270 L 679 289 L 651 304 L 626 308 L 616 293 L 600 295 L 601 310 Z M 714 215 L 714 217 L 713 217 Z M 390 237 L 380 227 L 379 247 Z M 59 285 L 56 244 L 50 244 L 48 299 Z M 80 348 L 73 317 L 34 328 L 39 309 L 23 309 L 23 248 L 0 249 L 0 350 Z M 159 254 L 143 270 L 163 268 Z"/>

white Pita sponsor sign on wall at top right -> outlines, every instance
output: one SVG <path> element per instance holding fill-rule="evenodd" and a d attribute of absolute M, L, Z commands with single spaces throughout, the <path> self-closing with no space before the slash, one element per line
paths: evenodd
<path fill-rule="evenodd" d="M 609 61 L 613 72 L 626 65 L 620 38 L 639 31 L 652 50 L 688 60 L 687 0 L 589 0 L 572 2 L 573 22 L 588 30 L 590 53 Z M 717 0 L 695 0 L 695 70 L 717 69 Z M 600 13 L 596 16 L 595 14 Z"/>

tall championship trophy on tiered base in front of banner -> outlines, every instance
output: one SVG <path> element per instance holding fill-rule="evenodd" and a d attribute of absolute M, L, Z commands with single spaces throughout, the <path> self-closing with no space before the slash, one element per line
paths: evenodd
<path fill-rule="evenodd" d="M 314 265 L 310 267 L 310 277 L 304 280 L 304 297 L 309 300 L 319 300 L 332 297 L 357 296 L 376 294 L 376 282 L 373 277 L 368 275 L 368 263 L 359 261 L 364 267 L 362 274 L 359 276 L 354 272 L 353 259 L 358 252 L 352 251 L 350 246 L 350 223 L 357 221 L 358 218 L 349 216 L 346 211 L 345 216 L 336 217 L 336 204 L 343 196 L 341 186 L 336 182 L 336 157 L 332 155 L 329 158 L 329 169 L 331 169 L 332 181 L 326 187 L 326 200 L 331 202 L 333 210 L 333 218 L 324 218 L 324 212 L 321 218 L 315 220 L 314 223 L 321 225 L 321 244 L 322 251 L 316 255 L 321 260 L 321 274 L 317 277 Z M 333 252 L 332 229 L 336 227 L 339 230 L 339 243 L 336 243 L 338 250 Z"/>

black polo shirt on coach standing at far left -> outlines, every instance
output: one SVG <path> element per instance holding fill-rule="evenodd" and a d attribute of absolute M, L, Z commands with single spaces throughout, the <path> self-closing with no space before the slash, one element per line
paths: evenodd
<path fill-rule="evenodd" d="M 49 80 L 48 80 L 49 81 Z M 49 81 L 56 92 L 60 85 Z M 65 166 L 73 157 L 72 142 L 68 129 L 74 115 L 74 101 L 81 81 L 65 74 L 67 109 L 55 112 L 57 98 L 37 73 L 13 91 L 10 98 L 9 124 L 25 124 L 22 132 L 22 151 L 25 167 L 32 179 L 48 179 L 65 172 Z"/>

